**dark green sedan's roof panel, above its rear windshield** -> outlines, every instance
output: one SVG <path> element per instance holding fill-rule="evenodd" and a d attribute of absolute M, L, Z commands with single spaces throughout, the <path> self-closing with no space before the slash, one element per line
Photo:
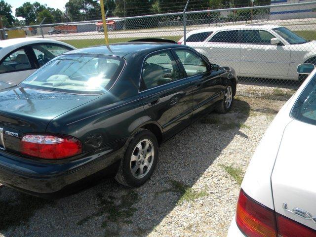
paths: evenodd
<path fill-rule="evenodd" d="M 157 43 L 157 42 L 123 42 L 113 43 L 109 45 L 97 45 L 88 48 L 80 48 L 72 50 L 64 54 L 103 54 L 112 55 L 118 57 L 124 57 L 130 53 L 136 52 L 153 52 L 161 49 L 174 48 L 174 47 L 188 47 L 185 45 L 179 45 L 176 43 Z"/>

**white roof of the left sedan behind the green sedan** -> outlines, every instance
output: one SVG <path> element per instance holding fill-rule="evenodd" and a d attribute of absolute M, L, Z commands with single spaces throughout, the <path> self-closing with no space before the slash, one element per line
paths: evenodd
<path fill-rule="evenodd" d="M 7 47 L 17 48 L 17 47 L 22 47 L 22 46 L 33 44 L 33 43 L 59 43 L 59 44 L 63 44 L 75 49 L 74 46 L 71 46 L 70 44 L 67 44 L 61 41 L 41 39 L 41 38 L 17 38 L 17 39 L 1 40 L 0 47 L 1 48 L 7 48 Z"/>

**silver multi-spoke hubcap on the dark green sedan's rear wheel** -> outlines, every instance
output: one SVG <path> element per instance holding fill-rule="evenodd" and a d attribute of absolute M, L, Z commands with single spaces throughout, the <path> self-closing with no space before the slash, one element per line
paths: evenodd
<path fill-rule="evenodd" d="M 150 140 L 144 139 L 136 145 L 130 159 L 130 170 L 135 178 L 141 179 L 149 172 L 154 155 L 154 146 Z"/>

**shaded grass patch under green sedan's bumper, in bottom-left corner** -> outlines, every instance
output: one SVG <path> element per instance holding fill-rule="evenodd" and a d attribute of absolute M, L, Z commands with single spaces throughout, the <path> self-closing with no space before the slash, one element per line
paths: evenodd
<path fill-rule="evenodd" d="M 0 200 L 0 230 L 27 224 L 34 212 L 46 204 L 54 204 L 54 200 L 46 200 L 27 194 L 17 193 L 16 199 Z"/>

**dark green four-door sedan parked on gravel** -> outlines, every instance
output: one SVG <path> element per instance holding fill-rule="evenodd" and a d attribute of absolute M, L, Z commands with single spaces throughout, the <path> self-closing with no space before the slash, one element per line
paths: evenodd
<path fill-rule="evenodd" d="M 159 145 L 231 109 L 234 69 L 194 49 L 127 42 L 62 54 L 0 92 L 0 183 L 52 197 L 108 171 L 138 187 Z"/>

